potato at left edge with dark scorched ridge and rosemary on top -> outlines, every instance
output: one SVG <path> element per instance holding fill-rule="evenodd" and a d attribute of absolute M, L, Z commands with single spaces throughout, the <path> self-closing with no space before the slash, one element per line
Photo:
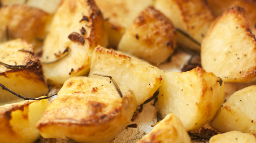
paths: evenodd
<path fill-rule="evenodd" d="M 24 66 L 10 69 L 0 64 L 1 84 L 25 97 L 39 97 L 47 94 L 48 87 L 42 65 L 31 44 L 21 39 L 1 43 L 0 61 L 9 65 Z M 2 88 L 0 92 L 0 103 L 18 99 Z"/>

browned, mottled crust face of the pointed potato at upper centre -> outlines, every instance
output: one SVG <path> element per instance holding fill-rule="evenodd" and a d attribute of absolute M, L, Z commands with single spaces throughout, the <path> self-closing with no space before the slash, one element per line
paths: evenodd
<path fill-rule="evenodd" d="M 154 24 L 150 24 L 153 23 Z M 157 27 L 157 28 L 156 28 Z M 147 31 L 148 33 L 143 33 L 140 35 L 139 31 Z M 139 16 L 134 20 L 134 24 L 129 29 L 132 35 L 136 37 L 137 40 L 141 40 L 148 46 L 166 46 L 168 48 L 174 49 L 176 47 L 176 30 L 172 22 L 159 10 L 155 9 L 153 6 L 145 8 Z M 135 33 L 136 32 L 136 33 Z M 156 37 L 161 37 L 156 39 Z M 168 42 L 167 39 L 169 39 Z M 155 41 L 156 40 L 156 41 Z"/>

